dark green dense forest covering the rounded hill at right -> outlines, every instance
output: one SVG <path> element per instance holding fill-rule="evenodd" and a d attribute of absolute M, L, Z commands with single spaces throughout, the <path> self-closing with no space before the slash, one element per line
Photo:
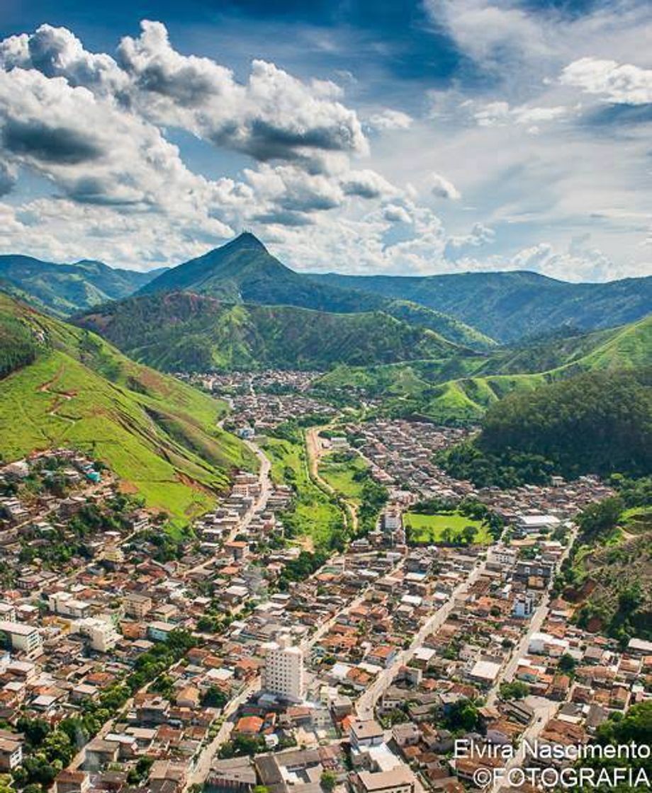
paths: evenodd
<path fill-rule="evenodd" d="M 551 473 L 640 475 L 652 468 L 652 370 L 591 372 L 512 393 L 480 435 L 439 456 L 453 476 L 511 487 Z"/>

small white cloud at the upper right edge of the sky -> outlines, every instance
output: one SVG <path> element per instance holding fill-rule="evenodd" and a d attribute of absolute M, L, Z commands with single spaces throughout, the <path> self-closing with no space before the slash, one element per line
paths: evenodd
<path fill-rule="evenodd" d="M 581 58 L 569 63 L 559 82 L 599 94 L 619 105 L 646 105 L 652 102 L 652 69 L 615 60 Z"/>

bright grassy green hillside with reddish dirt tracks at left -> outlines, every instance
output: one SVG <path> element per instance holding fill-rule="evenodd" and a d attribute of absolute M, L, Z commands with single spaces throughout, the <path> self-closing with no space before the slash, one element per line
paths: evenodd
<path fill-rule="evenodd" d="M 187 519 L 214 504 L 253 454 L 222 431 L 225 405 L 141 366 L 99 336 L 0 293 L 0 456 L 72 446 L 125 492 Z M 12 353 L 12 350 L 16 353 Z"/>

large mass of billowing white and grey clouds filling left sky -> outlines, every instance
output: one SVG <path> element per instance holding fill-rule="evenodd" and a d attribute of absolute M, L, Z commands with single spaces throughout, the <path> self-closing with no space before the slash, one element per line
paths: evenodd
<path fill-rule="evenodd" d="M 376 171 L 353 167 L 368 141 L 341 96 L 334 82 L 299 80 L 262 60 L 238 82 L 212 59 L 176 52 L 158 22 L 144 21 L 140 36 L 123 38 L 116 57 L 41 25 L 0 42 L 0 194 L 24 167 L 56 193 L 14 216 L 24 233 L 37 223 L 53 226 L 52 206 L 67 201 L 68 216 L 78 216 L 75 205 L 86 208 L 83 236 L 97 238 L 109 216 L 110 228 L 124 229 L 120 213 L 154 213 L 177 235 L 187 225 L 185 250 L 190 236 L 214 243 L 250 221 L 312 224 L 315 214 L 352 199 L 399 194 Z M 167 140 L 171 127 L 257 164 L 241 181 L 195 174 Z M 149 259 L 152 251 L 141 248 Z"/>

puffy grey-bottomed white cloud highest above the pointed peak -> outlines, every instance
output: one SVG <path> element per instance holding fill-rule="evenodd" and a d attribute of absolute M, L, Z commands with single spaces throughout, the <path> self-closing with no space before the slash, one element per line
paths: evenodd
<path fill-rule="evenodd" d="M 118 63 L 131 79 L 133 102 L 158 123 L 190 129 L 255 159 L 301 159 L 316 151 L 365 154 L 355 111 L 338 101 L 333 82 L 302 82 L 273 63 L 254 60 L 249 79 L 209 58 L 183 56 L 160 22 L 143 21 L 125 36 Z"/>

